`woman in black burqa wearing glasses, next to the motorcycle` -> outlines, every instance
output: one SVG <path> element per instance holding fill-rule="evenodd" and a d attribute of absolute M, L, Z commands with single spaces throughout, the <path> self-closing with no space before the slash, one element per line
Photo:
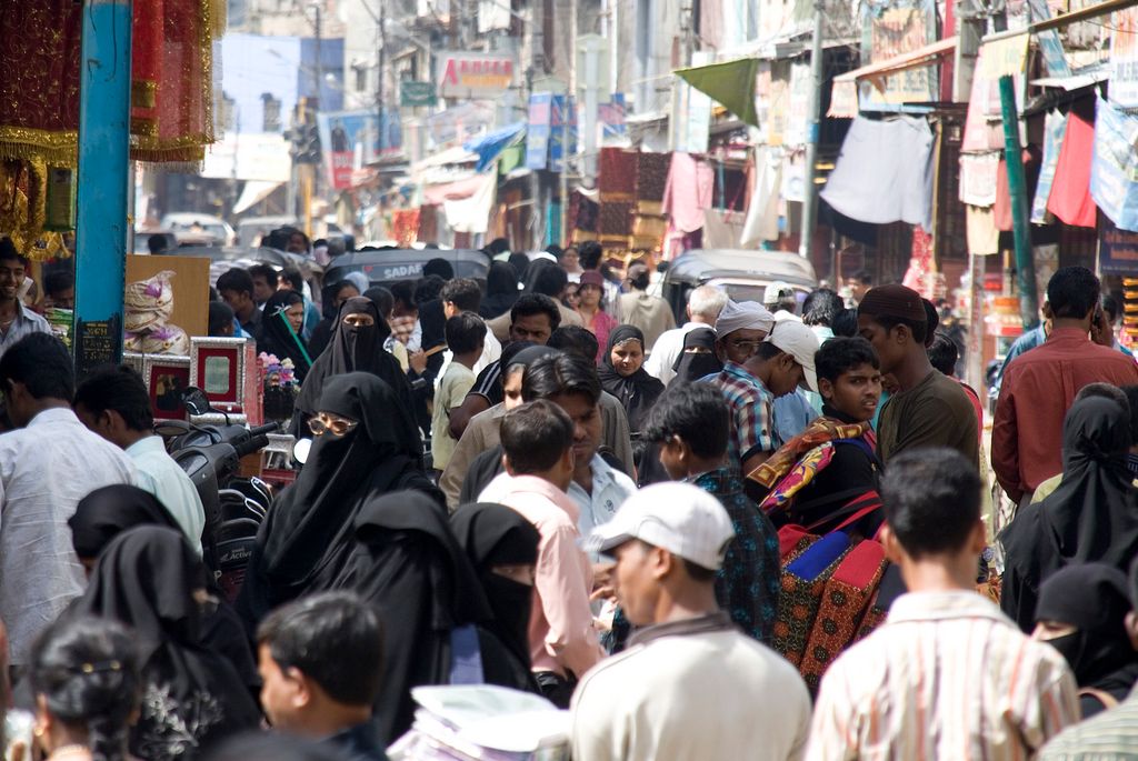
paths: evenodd
<path fill-rule="evenodd" d="M 237 599 L 250 637 L 269 611 L 338 578 L 355 544 L 353 522 L 369 498 L 417 489 L 444 504 L 423 472 L 410 405 L 390 386 L 370 373 L 337 375 L 314 406 L 354 424 L 315 437 L 296 482 L 257 532 Z"/>

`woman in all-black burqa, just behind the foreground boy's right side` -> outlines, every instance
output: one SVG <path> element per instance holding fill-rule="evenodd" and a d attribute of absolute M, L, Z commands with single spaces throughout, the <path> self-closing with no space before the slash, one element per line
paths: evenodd
<path fill-rule="evenodd" d="M 386 742 L 411 728 L 411 688 L 446 685 L 451 631 L 493 618 L 446 510 L 414 491 L 373 495 L 354 522 L 356 545 L 332 588 L 385 611 L 384 688 L 376 721 Z"/>

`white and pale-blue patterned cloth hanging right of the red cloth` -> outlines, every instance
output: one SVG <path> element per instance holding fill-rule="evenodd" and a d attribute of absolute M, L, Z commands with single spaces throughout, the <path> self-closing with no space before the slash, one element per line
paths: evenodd
<path fill-rule="evenodd" d="M 1098 99 L 1090 193 L 1120 230 L 1138 232 L 1138 117 Z"/>

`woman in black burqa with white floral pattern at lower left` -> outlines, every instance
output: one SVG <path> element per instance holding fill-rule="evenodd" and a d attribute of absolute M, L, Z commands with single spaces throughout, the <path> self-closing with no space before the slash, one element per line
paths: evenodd
<path fill-rule="evenodd" d="M 133 630 L 143 681 L 142 712 L 131 729 L 135 758 L 196 759 L 216 741 L 261 723 L 232 664 L 201 639 L 205 585 L 181 532 L 142 526 L 110 540 L 69 610 Z"/>

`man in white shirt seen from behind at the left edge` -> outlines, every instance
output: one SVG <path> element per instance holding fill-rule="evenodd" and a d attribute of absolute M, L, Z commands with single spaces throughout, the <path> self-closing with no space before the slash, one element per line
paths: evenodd
<path fill-rule="evenodd" d="M 32 333 L 9 347 L 0 389 L 18 429 L 0 436 L 0 620 L 13 665 L 26 667 L 35 637 L 83 593 L 67 519 L 94 489 L 135 477 L 72 412 L 75 371 L 59 339 Z"/>

